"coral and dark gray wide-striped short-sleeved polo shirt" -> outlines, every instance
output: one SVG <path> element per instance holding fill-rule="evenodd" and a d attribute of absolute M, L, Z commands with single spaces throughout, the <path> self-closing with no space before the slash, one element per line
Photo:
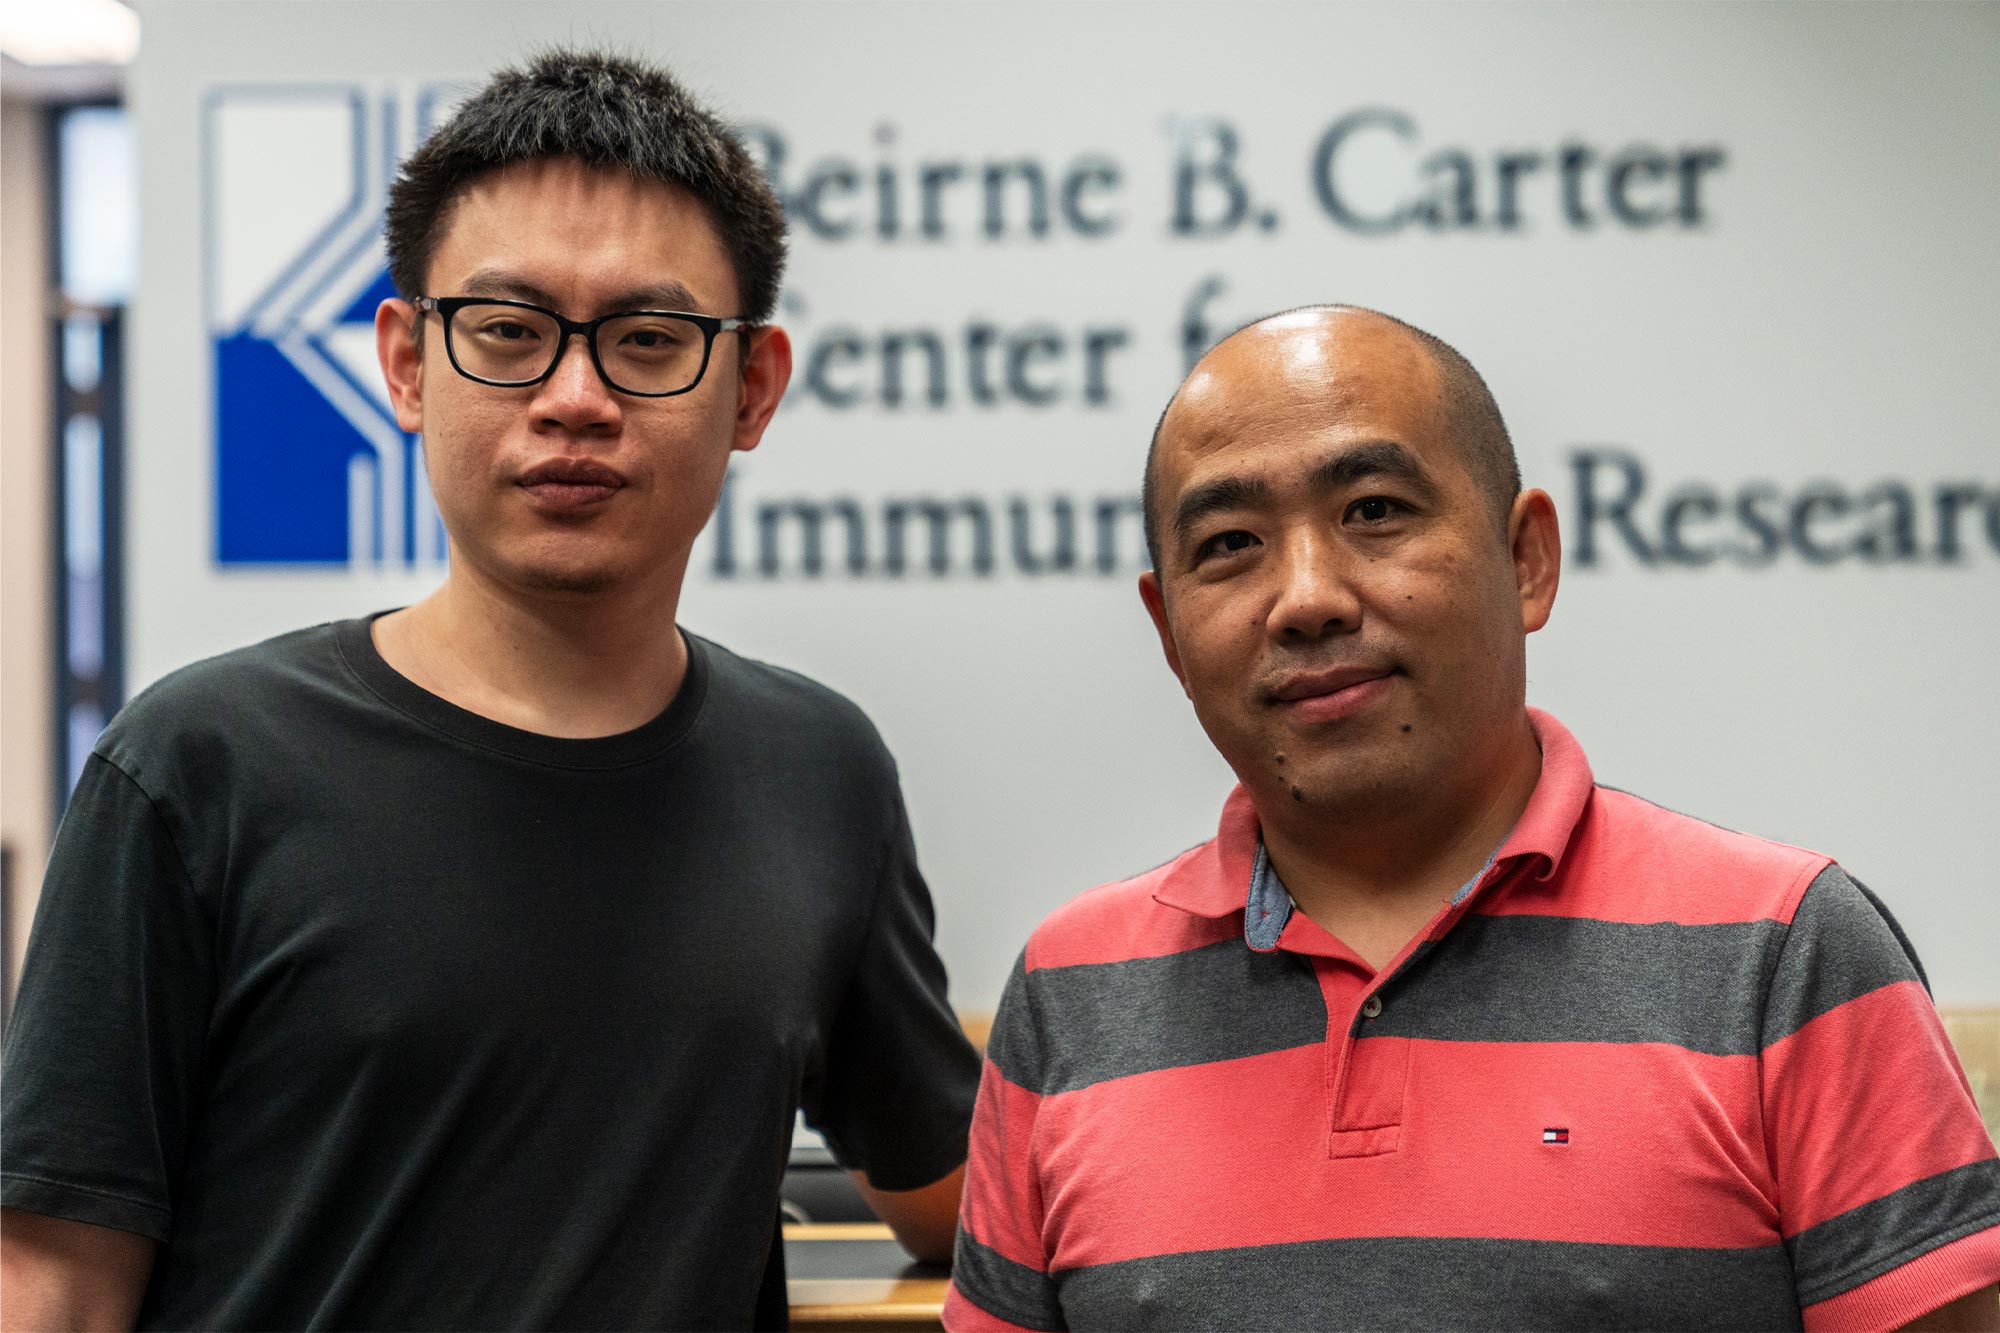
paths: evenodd
<path fill-rule="evenodd" d="M 2000 1161 L 1888 913 L 1532 717 L 1518 827 L 1382 971 L 1304 913 L 1254 939 L 1290 899 L 1240 789 L 1034 933 L 946 1327 L 1862 1329 L 2000 1277 Z"/>

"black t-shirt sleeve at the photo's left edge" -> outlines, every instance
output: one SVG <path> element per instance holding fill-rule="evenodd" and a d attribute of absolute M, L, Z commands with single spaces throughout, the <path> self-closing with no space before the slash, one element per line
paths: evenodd
<path fill-rule="evenodd" d="M 0 1203 L 168 1237 L 212 939 L 154 803 L 92 755 L 56 831 L 8 1027 Z"/>

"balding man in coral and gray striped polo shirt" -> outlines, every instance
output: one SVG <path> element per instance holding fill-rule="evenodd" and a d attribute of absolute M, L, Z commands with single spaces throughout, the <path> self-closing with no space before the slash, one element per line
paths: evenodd
<path fill-rule="evenodd" d="M 1240 785 L 1028 943 L 946 1327 L 2000 1327 L 2000 1161 L 1888 911 L 1526 707 L 1556 512 L 1458 352 L 1236 332 L 1146 520 Z"/>

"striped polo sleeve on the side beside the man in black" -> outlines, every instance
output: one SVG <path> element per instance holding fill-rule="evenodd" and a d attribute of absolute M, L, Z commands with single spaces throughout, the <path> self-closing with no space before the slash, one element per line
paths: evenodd
<path fill-rule="evenodd" d="M 1034 1163 L 1044 1059 L 1022 953 L 994 1015 L 972 1111 L 952 1291 L 944 1305 L 944 1327 L 954 1333 L 1066 1327 L 1048 1275 Z"/>

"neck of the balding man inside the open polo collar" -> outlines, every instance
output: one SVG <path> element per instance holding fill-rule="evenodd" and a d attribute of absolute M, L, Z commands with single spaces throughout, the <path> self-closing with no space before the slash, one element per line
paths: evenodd
<path fill-rule="evenodd" d="M 1306 917 L 1382 967 L 1478 875 L 1520 821 L 1542 777 L 1526 715 L 1490 763 L 1464 765 L 1468 791 L 1334 815 L 1260 811 L 1272 869 Z"/>

